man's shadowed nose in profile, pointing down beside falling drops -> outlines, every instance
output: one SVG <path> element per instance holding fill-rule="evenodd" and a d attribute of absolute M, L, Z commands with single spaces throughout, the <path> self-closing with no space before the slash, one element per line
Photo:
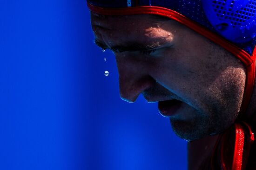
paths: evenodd
<path fill-rule="evenodd" d="M 155 79 L 148 74 L 149 69 L 152 69 L 151 65 L 148 61 L 138 59 L 136 56 L 125 54 L 115 56 L 119 73 L 120 97 L 133 103 L 141 92 L 155 85 Z"/>

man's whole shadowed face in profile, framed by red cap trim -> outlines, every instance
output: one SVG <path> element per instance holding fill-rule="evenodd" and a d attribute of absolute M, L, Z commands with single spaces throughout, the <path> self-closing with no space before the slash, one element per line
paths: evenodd
<path fill-rule="evenodd" d="M 234 123 L 243 99 L 240 60 L 186 26 L 154 15 L 91 13 L 95 42 L 111 49 L 121 98 L 141 93 L 158 102 L 175 133 L 188 141 L 221 133 Z"/>

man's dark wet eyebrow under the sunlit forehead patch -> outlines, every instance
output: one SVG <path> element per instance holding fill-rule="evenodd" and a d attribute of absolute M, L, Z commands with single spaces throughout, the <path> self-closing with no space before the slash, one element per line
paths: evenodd
<path fill-rule="evenodd" d="M 94 39 L 94 43 L 104 50 L 110 49 L 113 52 L 147 51 L 147 50 L 153 50 L 153 49 L 159 48 L 164 44 L 166 44 L 166 43 L 161 44 L 160 42 L 151 42 L 150 44 L 138 44 L 137 42 L 127 42 L 125 45 L 108 47 L 107 45 L 101 43 L 97 39 Z"/>

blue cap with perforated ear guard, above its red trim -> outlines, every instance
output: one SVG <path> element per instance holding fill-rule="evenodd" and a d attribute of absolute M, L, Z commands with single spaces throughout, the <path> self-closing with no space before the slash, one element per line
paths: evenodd
<path fill-rule="evenodd" d="M 181 13 L 249 55 L 256 45 L 256 0 L 88 0 L 103 8 L 155 6 Z"/>

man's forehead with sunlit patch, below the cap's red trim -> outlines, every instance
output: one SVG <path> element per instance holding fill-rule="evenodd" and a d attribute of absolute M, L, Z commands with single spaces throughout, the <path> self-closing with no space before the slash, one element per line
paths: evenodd
<path fill-rule="evenodd" d="M 161 44 L 172 40 L 172 28 L 167 26 L 169 22 L 173 21 L 148 14 L 111 16 L 91 13 L 95 38 L 107 46 L 120 45 L 122 42 L 155 41 Z"/>

